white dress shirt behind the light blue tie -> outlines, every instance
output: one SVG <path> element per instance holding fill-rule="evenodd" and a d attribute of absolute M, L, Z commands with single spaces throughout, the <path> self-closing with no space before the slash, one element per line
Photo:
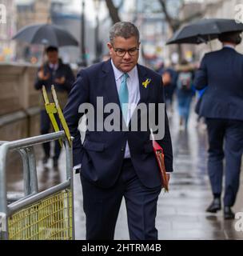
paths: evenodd
<path fill-rule="evenodd" d="M 121 70 L 118 70 L 116 66 L 114 66 L 114 62 L 111 60 L 111 65 L 114 70 L 114 76 L 116 79 L 116 85 L 117 90 L 119 92 L 121 81 L 122 81 L 122 75 L 124 74 Z M 128 78 L 126 80 L 126 85 L 128 88 L 128 94 L 129 94 L 129 102 L 128 102 L 128 114 L 127 119 L 125 120 L 126 126 L 129 124 L 129 120 L 133 115 L 133 111 L 135 110 L 137 103 L 140 100 L 140 91 L 139 91 L 139 79 L 138 79 L 138 72 L 137 72 L 137 66 L 133 67 L 133 70 L 130 70 L 128 73 Z M 125 145 L 125 155 L 124 158 L 130 158 L 130 151 L 128 142 L 126 142 Z"/>

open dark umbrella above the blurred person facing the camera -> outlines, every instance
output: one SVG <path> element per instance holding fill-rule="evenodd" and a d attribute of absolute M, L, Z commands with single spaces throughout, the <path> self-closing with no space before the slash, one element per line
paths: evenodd
<path fill-rule="evenodd" d="M 78 41 L 70 32 L 48 23 L 25 26 L 13 39 L 45 46 L 78 46 Z"/>

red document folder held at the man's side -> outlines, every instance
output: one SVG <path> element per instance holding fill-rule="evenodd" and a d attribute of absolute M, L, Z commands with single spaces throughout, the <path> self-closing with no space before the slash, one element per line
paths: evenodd
<path fill-rule="evenodd" d="M 165 189 L 165 192 L 169 192 L 169 180 L 167 179 L 165 171 L 165 155 L 161 146 L 153 140 L 153 151 L 157 159 L 157 163 L 161 172 L 161 181 L 162 186 Z"/>

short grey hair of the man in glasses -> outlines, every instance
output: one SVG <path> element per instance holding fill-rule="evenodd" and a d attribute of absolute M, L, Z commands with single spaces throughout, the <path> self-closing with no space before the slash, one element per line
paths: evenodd
<path fill-rule="evenodd" d="M 117 22 L 110 28 L 110 42 L 114 42 L 114 38 L 137 38 L 137 42 L 139 42 L 139 31 L 137 30 L 137 26 L 135 26 L 131 22 Z"/>

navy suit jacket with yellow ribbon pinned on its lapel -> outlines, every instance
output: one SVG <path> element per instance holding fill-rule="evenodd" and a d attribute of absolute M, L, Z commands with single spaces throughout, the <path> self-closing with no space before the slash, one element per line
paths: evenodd
<path fill-rule="evenodd" d="M 164 102 L 161 93 L 161 76 L 137 65 L 140 89 L 140 102 Z M 142 86 L 147 78 L 151 79 L 149 86 Z M 78 107 L 89 102 L 96 110 L 97 97 L 103 97 L 104 106 L 113 102 L 119 104 L 118 90 L 114 78 L 111 61 L 94 64 L 78 73 L 77 80 L 70 92 L 69 100 L 64 110 L 70 133 L 74 136 L 74 166 L 82 163 L 81 174 L 91 182 L 101 187 L 113 186 L 120 174 L 125 153 L 125 143 L 128 141 L 131 160 L 138 178 L 147 187 L 161 185 L 161 178 L 153 153 L 152 141 L 148 131 L 86 131 L 86 139 L 82 145 L 78 131 L 78 121 L 82 114 Z M 95 113 L 97 114 L 97 113 Z M 104 114 L 104 119 L 109 114 Z M 120 117 L 121 108 L 120 108 Z M 137 118 L 139 122 L 139 116 Z M 97 123 L 95 122 L 95 125 Z M 139 127 L 139 124 L 138 124 Z M 167 115 L 165 116 L 165 136 L 158 141 L 165 150 L 165 167 L 173 171 L 173 153 L 169 134 Z"/>

